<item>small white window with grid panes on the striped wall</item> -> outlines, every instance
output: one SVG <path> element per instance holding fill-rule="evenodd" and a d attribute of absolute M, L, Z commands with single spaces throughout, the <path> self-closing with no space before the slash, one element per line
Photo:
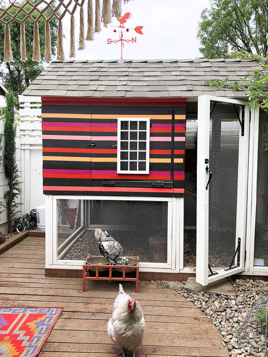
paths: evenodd
<path fill-rule="evenodd" d="M 149 174 L 150 118 L 118 118 L 118 174 Z"/>

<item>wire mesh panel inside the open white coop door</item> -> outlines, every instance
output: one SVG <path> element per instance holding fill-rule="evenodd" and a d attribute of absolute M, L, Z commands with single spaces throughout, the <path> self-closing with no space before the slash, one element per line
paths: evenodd
<path fill-rule="evenodd" d="M 211 103 L 211 108 L 214 103 Z M 239 107 L 237 107 L 239 113 Z M 226 268 L 235 253 L 239 121 L 232 105 L 217 104 L 210 116 L 209 265 Z"/>

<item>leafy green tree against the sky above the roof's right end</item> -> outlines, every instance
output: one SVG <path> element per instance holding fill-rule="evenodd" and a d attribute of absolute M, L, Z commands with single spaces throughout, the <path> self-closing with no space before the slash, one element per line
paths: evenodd
<path fill-rule="evenodd" d="M 266 56 L 267 28 L 267 0 L 210 0 L 199 22 L 199 50 L 207 58 L 226 57 L 232 51 Z"/>

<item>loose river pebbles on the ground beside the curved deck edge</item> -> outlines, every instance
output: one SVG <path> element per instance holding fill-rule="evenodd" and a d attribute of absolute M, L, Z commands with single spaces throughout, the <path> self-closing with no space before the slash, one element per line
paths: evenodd
<path fill-rule="evenodd" d="M 268 282 L 251 279 L 237 279 L 232 282 L 236 296 L 224 296 L 202 292 L 190 292 L 180 283 L 174 290 L 194 303 L 207 315 L 222 335 L 222 344 L 227 346 L 231 357 L 265 356 L 265 335 L 249 334 L 238 342 L 238 329 L 242 326 L 247 312 L 259 298 L 268 297 Z M 162 287 L 168 286 L 162 282 Z"/>

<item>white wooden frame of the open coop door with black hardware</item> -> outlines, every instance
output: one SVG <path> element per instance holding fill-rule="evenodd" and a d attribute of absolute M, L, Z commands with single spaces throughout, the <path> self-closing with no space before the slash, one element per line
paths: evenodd
<path fill-rule="evenodd" d="M 244 136 L 239 130 L 239 165 L 238 165 L 238 192 L 237 192 L 237 228 L 236 245 L 238 237 L 241 238 L 240 265 L 232 270 L 217 270 L 217 275 L 208 276 L 208 213 L 209 213 L 209 188 L 208 173 L 205 159 L 209 159 L 209 120 L 210 102 L 245 105 L 244 101 L 227 99 L 215 96 L 198 97 L 198 142 L 197 142 L 197 266 L 196 281 L 203 286 L 221 278 L 245 270 L 245 228 L 247 209 L 247 177 L 248 177 L 248 141 L 249 141 L 249 109 L 245 106 Z M 241 117 L 241 111 L 240 111 Z M 237 258 L 235 260 L 235 264 Z"/>

